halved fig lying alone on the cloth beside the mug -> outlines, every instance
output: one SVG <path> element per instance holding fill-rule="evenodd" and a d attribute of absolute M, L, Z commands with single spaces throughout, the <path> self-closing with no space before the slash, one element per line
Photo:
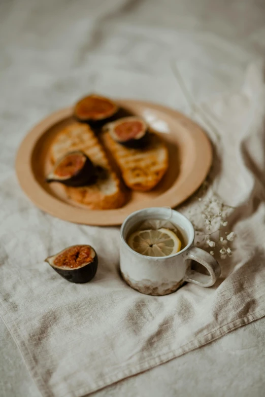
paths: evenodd
<path fill-rule="evenodd" d="M 68 281 L 84 283 L 96 274 L 98 259 L 90 245 L 72 245 L 46 258 L 45 262 Z"/>

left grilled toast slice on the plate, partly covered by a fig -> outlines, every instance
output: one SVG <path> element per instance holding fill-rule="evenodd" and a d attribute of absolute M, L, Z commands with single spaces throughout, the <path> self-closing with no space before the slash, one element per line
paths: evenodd
<path fill-rule="evenodd" d="M 111 168 L 100 141 L 87 124 L 73 123 L 56 135 L 50 147 L 51 161 L 55 163 L 66 153 L 77 150 L 84 152 L 100 172 L 93 185 L 78 188 L 64 186 L 68 197 L 90 209 L 121 207 L 126 200 L 121 182 Z"/>

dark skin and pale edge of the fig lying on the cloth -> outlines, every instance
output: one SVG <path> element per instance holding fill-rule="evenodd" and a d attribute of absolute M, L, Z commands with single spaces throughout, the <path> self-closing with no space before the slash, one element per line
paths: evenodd
<path fill-rule="evenodd" d="M 92 248 L 90 245 L 88 245 L 90 248 Z M 96 251 L 94 248 L 92 250 L 95 253 L 95 256 L 93 258 L 92 262 L 87 263 L 86 265 L 83 265 L 82 267 L 79 268 L 74 268 L 74 269 L 63 269 L 60 267 L 56 267 L 53 265 L 53 260 L 60 254 L 63 253 L 63 251 L 66 251 L 67 249 L 75 247 L 75 245 L 67 247 L 63 249 L 62 251 L 58 252 L 58 254 L 53 255 L 52 257 L 48 257 L 45 259 L 45 262 L 47 262 L 53 270 L 55 270 L 61 277 L 65 278 L 65 280 L 68 280 L 70 282 L 74 282 L 76 284 L 84 284 L 85 282 L 89 282 L 92 280 L 92 278 L 95 276 L 96 271 L 97 271 L 97 265 L 98 265 L 98 257 L 96 254 Z"/>

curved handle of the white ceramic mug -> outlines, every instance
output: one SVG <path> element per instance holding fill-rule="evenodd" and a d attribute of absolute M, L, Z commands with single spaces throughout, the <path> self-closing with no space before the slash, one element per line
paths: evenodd
<path fill-rule="evenodd" d="M 210 275 L 196 272 L 191 269 L 191 260 L 196 261 L 203 265 Z M 187 254 L 186 261 L 189 261 L 189 265 L 186 270 L 184 277 L 185 281 L 192 282 L 203 287 L 212 286 L 215 281 L 220 277 L 221 267 L 219 263 L 206 252 L 204 249 L 192 247 Z"/>

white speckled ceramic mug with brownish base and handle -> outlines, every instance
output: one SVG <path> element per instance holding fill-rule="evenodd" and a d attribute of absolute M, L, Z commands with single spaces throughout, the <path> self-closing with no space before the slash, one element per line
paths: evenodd
<path fill-rule="evenodd" d="M 131 230 L 148 219 L 168 220 L 175 224 L 186 236 L 185 247 L 167 257 L 148 257 L 131 249 L 126 242 Z M 123 279 L 135 290 L 148 295 L 171 294 L 185 281 L 203 287 L 212 286 L 221 274 L 220 265 L 208 252 L 193 246 L 194 234 L 194 228 L 186 216 L 171 208 L 154 207 L 132 212 L 120 230 L 120 270 Z M 192 261 L 203 265 L 208 274 L 192 270 Z"/>

